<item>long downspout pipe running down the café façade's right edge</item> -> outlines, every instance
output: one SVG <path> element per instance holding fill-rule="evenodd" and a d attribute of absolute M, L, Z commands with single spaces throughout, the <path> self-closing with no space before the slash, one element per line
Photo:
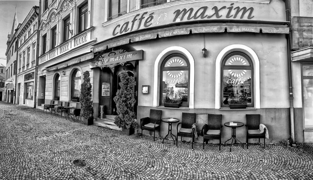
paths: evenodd
<path fill-rule="evenodd" d="M 295 117 L 293 105 L 293 86 L 292 86 L 292 72 L 291 72 L 291 37 L 292 37 L 292 23 L 291 23 L 291 9 L 290 0 L 285 0 L 286 6 L 286 20 L 289 22 L 290 33 L 286 34 L 287 38 L 287 57 L 288 57 L 288 81 L 289 81 L 289 104 L 290 104 L 290 137 L 292 142 L 295 142 Z"/>

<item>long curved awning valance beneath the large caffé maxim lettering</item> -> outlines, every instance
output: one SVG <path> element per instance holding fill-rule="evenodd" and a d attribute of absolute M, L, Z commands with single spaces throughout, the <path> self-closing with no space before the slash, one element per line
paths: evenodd
<path fill-rule="evenodd" d="M 289 27 L 286 25 L 262 25 L 262 24 L 202 24 L 202 25 L 186 25 L 162 30 L 147 31 L 145 33 L 132 34 L 123 38 L 110 40 L 91 48 L 92 51 L 98 52 L 105 49 L 110 49 L 116 46 L 128 44 L 130 42 L 144 41 L 159 38 L 177 36 L 189 33 L 222 33 L 227 29 L 227 32 L 252 32 L 252 33 L 289 33 Z"/>

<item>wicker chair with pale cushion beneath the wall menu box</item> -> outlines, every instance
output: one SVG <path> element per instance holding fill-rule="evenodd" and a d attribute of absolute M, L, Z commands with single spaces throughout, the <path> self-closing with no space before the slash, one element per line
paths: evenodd
<path fill-rule="evenodd" d="M 149 133 L 153 131 L 153 142 L 155 141 L 155 132 L 156 129 L 159 130 L 160 134 L 160 121 L 161 121 L 162 110 L 150 109 L 150 116 L 140 119 L 140 128 L 141 128 L 141 139 L 142 139 L 142 130 L 147 130 Z"/>

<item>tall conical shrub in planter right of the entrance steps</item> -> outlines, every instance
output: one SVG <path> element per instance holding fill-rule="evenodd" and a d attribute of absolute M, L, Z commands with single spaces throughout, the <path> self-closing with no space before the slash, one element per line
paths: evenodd
<path fill-rule="evenodd" d="M 134 78 L 128 76 L 127 72 L 121 73 L 121 89 L 117 90 L 114 102 L 116 103 L 115 124 L 123 129 L 123 133 L 131 135 L 138 126 L 135 120 L 135 98 L 134 98 Z"/>

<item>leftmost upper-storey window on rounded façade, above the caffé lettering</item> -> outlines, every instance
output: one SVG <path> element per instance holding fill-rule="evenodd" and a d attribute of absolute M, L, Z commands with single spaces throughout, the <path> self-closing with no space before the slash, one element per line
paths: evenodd
<path fill-rule="evenodd" d="M 109 18 L 117 18 L 127 13 L 127 0 L 109 0 Z"/>

